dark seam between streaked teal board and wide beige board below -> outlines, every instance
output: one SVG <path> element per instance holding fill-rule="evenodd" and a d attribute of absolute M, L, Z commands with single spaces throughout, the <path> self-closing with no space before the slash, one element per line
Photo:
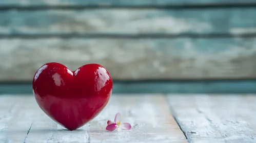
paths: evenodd
<path fill-rule="evenodd" d="M 115 34 L 115 33 L 60 33 L 60 34 L 0 34 L 0 38 L 13 39 L 37 39 L 37 38 L 128 38 L 128 39 L 149 39 L 149 38 L 251 38 L 256 37 L 256 33 L 181 33 L 181 34 L 163 34 L 163 33 L 148 33 L 148 34 Z"/>

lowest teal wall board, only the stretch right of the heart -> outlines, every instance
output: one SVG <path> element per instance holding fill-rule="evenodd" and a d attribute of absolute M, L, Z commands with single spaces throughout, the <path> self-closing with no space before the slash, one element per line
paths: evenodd
<path fill-rule="evenodd" d="M 167 81 L 114 84 L 116 93 L 255 93 L 255 81 Z"/>

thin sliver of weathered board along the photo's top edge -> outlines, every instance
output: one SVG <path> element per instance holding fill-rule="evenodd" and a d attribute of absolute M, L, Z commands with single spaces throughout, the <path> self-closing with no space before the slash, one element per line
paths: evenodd
<path fill-rule="evenodd" d="M 204 4 L 247 4 L 254 0 L 8 0 L 0 1 L 1 6 L 175 6 L 175 5 L 204 5 Z"/>

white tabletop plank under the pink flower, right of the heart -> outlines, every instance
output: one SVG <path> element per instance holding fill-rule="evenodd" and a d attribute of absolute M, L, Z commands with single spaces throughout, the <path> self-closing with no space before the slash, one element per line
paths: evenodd
<path fill-rule="evenodd" d="M 132 125 L 130 132 L 105 133 L 106 118 L 113 120 L 120 112 Z M 97 132 L 101 130 L 103 132 Z M 91 140 L 105 142 L 187 142 L 171 115 L 165 98 L 150 94 L 120 94 L 113 96 L 105 111 L 90 125 Z"/>

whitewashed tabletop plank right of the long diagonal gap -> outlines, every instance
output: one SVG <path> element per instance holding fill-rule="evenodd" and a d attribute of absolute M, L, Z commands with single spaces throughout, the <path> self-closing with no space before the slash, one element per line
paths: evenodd
<path fill-rule="evenodd" d="M 255 95 L 168 96 L 189 142 L 255 142 Z"/>

